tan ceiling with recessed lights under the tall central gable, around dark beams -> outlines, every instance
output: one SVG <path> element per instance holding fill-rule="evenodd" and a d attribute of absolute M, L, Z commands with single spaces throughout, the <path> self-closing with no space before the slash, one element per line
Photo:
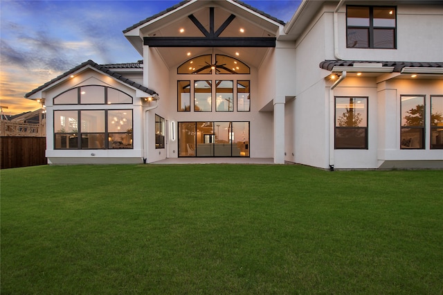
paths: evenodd
<path fill-rule="evenodd" d="M 266 17 L 259 10 L 252 10 L 244 6 L 244 3 L 237 1 L 195 1 L 188 2 L 174 11 L 174 13 L 166 13 L 157 19 L 152 19 L 147 23 L 138 26 L 138 36 L 136 42 L 143 42 L 143 37 L 204 37 L 204 33 L 189 18 L 193 15 L 199 23 L 209 32 L 210 31 L 210 13 L 209 8 L 214 8 L 214 30 L 224 24 L 224 21 L 235 15 L 235 19 L 226 27 L 219 37 L 276 37 L 283 22 L 272 17 Z M 243 29 L 243 32 L 240 31 Z M 183 33 L 181 33 L 183 29 Z M 130 42 L 134 44 L 135 40 L 129 35 L 135 35 L 134 29 L 125 33 Z M 134 36 L 135 37 L 135 36 Z M 138 45 L 139 46 L 139 45 Z M 269 48 L 192 48 L 192 47 L 157 47 L 156 51 L 161 55 L 168 67 L 174 68 L 185 62 L 186 60 L 212 52 L 213 49 L 217 53 L 223 53 L 242 60 L 249 66 L 260 66 L 264 55 Z M 142 54 L 143 49 L 138 48 Z M 188 55 L 190 53 L 190 55 Z M 238 53 L 238 54 L 236 54 Z"/>

